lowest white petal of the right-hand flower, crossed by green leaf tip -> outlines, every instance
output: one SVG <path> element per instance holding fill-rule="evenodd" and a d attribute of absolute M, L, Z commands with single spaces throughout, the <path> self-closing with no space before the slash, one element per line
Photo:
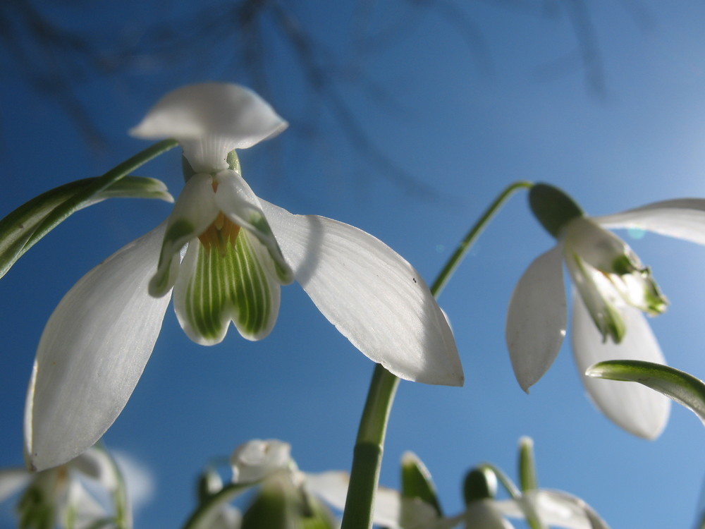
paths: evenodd
<path fill-rule="evenodd" d="M 592 401 L 627 432 L 655 439 L 668 421 L 670 400 L 641 384 L 586 377 L 585 370 L 603 360 L 646 360 L 665 364 L 661 348 L 644 315 L 625 307 L 626 334 L 621 343 L 603 341 L 580 296 L 573 295 L 572 348 L 575 363 Z"/>

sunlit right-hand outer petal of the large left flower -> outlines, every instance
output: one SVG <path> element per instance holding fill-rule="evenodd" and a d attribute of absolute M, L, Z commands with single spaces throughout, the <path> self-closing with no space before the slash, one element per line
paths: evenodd
<path fill-rule="evenodd" d="M 400 378 L 462 385 L 446 317 L 403 257 L 348 224 L 260 202 L 294 278 L 355 347 Z"/>

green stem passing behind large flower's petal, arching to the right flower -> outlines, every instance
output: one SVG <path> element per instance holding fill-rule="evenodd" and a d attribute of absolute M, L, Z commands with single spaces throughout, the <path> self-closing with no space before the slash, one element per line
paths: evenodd
<path fill-rule="evenodd" d="M 450 256 L 446 266 L 431 285 L 431 293 L 438 298 L 443 287 L 446 286 L 460 261 L 472 247 L 484 227 L 489 223 L 494 214 L 508 198 L 519 189 L 527 189 L 533 183 L 517 181 L 510 184 L 489 205 L 482 216 L 475 222 L 465 238 L 460 241 L 458 248 Z M 357 430 L 355 449 L 353 450 L 353 466 L 350 470 L 350 485 L 348 497 L 343 512 L 341 529 L 369 529 L 372 528 L 372 509 L 374 494 L 379 482 L 379 470 L 384 451 L 384 437 L 387 421 L 391 412 L 394 395 L 399 385 L 399 379 L 377 364 L 374 367 L 372 381 L 367 392 L 367 401 L 364 403 L 360 427 Z"/>

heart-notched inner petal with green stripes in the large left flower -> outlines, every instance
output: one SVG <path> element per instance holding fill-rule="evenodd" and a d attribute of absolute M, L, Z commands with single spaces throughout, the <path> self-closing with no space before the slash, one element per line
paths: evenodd
<path fill-rule="evenodd" d="M 279 281 L 262 243 L 241 229 L 234 243 L 228 239 L 206 248 L 194 241 L 192 246 L 197 247 L 192 273 L 183 286 L 179 277 L 174 293 L 177 315 L 190 338 L 219 343 L 231 321 L 246 339 L 269 334 L 279 310 Z"/>

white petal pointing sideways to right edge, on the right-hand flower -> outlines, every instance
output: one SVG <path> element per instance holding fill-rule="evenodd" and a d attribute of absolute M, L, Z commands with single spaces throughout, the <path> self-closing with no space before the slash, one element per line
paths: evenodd
<path fill-rule="evenodd" d="M 682 198 L 596 217 L 606 228 L 637 228 L 705 244 L 705 200 Z"/>

